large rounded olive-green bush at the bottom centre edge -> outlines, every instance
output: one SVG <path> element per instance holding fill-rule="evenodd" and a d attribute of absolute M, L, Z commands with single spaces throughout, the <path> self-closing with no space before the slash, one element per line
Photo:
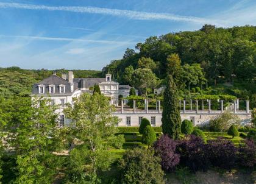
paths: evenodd
<path fill-rule="evenodd" d="M 164 172 L 153 149 L 127 150 L 119 162 L 118 183 L 164 183 Z"/>

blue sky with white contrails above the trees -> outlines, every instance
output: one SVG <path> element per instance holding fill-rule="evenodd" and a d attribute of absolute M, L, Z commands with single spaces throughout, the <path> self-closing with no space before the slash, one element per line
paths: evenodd
<path fill-rule="evenodd" d="M 0 0 L 0 67 L 102 69 L 151 35 L 256 24 L 256 1 Z"/>

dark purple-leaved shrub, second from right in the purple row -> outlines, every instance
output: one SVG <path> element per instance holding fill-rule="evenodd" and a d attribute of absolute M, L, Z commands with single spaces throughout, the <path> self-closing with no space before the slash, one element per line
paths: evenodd
<path fill-rule="evenodd" d="M 232 169 L 235 166 L 236 147 L 231 141 L 224 139 L 208 140 L 207 155 L 213 166 Z"/>

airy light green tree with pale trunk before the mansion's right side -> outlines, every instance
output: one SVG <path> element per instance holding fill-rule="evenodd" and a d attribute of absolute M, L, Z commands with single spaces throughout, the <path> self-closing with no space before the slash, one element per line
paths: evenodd
<path fill-rule="evenodd" d="M 73 171 L 74 177 L 78 177 L 76 182 L 96 182 L 99 179 L 99 173 L 108 169 L 113 161 L 114 155 L 109 151 L 113 143 L 123 141 L 115 133 L 118 132 L 116 125 L 118 118 L 112 116 L 114 108 L 109 105 L 108 98 L 102 94 L 88 93 L 82 94 L 79 98 L 74 99 L 73 106 L 68 105 L 65 109 L 67 118 L 72 119 L 70 136 L 76 149 L 71 151 L 73 160 L 83 154 L 84 160 L 79 161 L 80 173 L 76 168 Z M 76 152 L 76 154 L 74 153 Z M 87 165 L 87 167 L 85 167 Z M 84 168 L 83 168 L 84 166 Z M 73 167 L 70 167 L 71 169 Z M 87 175 L 88 178 L 80 177 Z"/>

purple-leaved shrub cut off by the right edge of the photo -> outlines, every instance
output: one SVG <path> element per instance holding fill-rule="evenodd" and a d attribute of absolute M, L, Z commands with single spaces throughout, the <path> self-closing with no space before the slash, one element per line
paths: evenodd
<path fill-rule="evenodd" d="M 246 140 L 244 145 L 240 145 L 238 163 L 249 168 L 254 168 L 256 165 L 256 145 L 253 140 Z"/>

